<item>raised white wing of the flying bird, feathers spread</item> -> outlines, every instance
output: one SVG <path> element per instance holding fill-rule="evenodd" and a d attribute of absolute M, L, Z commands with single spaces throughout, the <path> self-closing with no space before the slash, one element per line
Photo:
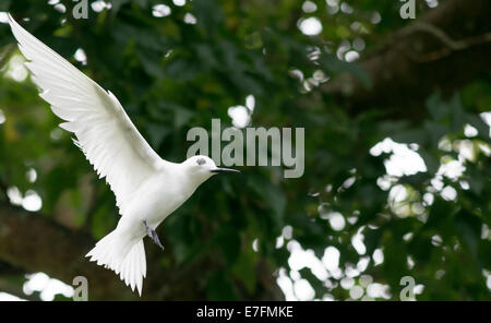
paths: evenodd
<path fill-rule="evenodd" d="M 106 177 L 124 214 L 124 203 L 135 189 L 168 163 L 139 133 L 112 93 L 31 35 L 10 14 L 9 23 L 29 60 L 26 65 L 32 80 L 43 89 L 40 97 L 67 121 L 60 127 L 75 134 L 75 144 L 99 177 Z"/>

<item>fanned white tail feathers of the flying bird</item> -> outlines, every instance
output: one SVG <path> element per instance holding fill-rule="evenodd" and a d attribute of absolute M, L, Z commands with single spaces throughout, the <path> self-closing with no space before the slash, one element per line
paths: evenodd
<path fill-rule="evenodd" d="M 104 237 L 96 243 L 85 256 L 96 261 L 98 265 L 115 271 L 121 280 L 131 289 L 139 290 L 142 296 L 143 278 L 146 276 L 146 259 L 143 239 L 137 241 L 124 241 L 116 230 Z"/>

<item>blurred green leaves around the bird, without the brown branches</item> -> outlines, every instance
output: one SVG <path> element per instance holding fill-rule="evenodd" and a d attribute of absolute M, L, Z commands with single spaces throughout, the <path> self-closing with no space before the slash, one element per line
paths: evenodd
<path fill-rule="evenodd" d="M 292 0 L 166 1 L 170 14 L 158 16 L 160 1 L 115 0 L 87 20 L 72 19 L 71 1 L 62 1 L 67 12 L 27 0 L 2 1 L 0 10 L 29 17 L 29 32 L 115 93 L 166 159 L 184 158 L 190 128 L 211 129 L 212 118 L 231 125 L 229 107 L 250 95 L 251 127 L 306 129 L 303 177 L 243 167 L 243 176 L 206 182 L 159 228 L 161 267 L 209 264 L 196 295 L 262 299 L 264 275 L 273 285 L 279 275 L 295 286 L 307 279 L 318 299 L 359 298 L 354 286 L 368 299 L 398 299 L 400 278 L 412 276 L 424 286 L 420 300 L 489 300 L 491 143 L 480 115 L 490 109 L 489 73 L 452 97 L 435 93 L 418 121 L 386 120 L 382 106 L 350 115 L 319 88 L 344 72 L 370 87 L 339 48 L 363 44 L 349 50 L 370 52 L 404 24 L 397 1 L 382 2 L 312 1 L 316 10 L 306 13 Z M 309 16 L 322 21 L 321 34 L 302 34 L 298 21 Z M 115 199 L 35 85 L 15 79 L 22 68 L 13 41 L 0 24 L 0 182 L 10 188 L 9 199 L 0 196 L 22 203 L 14 187 L 24 201 L 38 194 L 43 216 L 100 238 L 119 218 Z M 75 58 L 79 49 L 86 63 Z M 387 137 L 409 145 L 426 169 L 388 171 L 395 153 L 374 149 Z M 338 250 L 338 266 L 327 247 Z M 319 273 L 312 263 L 292 264 L 299 250 L 326 266 Z M 376 286 L 384 292 L 369 292 Z"/>

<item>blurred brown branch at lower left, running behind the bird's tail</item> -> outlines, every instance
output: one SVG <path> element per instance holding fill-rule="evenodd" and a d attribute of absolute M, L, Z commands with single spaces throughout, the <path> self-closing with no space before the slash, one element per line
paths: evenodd
<path fill-rule="evenodd" d="M 88 279 L 88 297 L 137 299 L 110 271 L 84 259 L 94 240 L 36 213 L 0 204 L 0 259 L 26 272 L 44 272 L 71 284 Z"/>

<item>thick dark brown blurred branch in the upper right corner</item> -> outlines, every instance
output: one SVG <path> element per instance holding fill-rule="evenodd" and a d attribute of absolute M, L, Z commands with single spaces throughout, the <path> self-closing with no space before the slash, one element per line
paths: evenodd
<path fill-rule="evenodd" d="M 384 106 L 392 116 L 419 118 L 435 89 L 450 94 L 491 70 L 490 12 L 489 0 L 447 0 L 360 60 L 371 88 L 339 75 L 322 89 L 354 113 Z"/>

